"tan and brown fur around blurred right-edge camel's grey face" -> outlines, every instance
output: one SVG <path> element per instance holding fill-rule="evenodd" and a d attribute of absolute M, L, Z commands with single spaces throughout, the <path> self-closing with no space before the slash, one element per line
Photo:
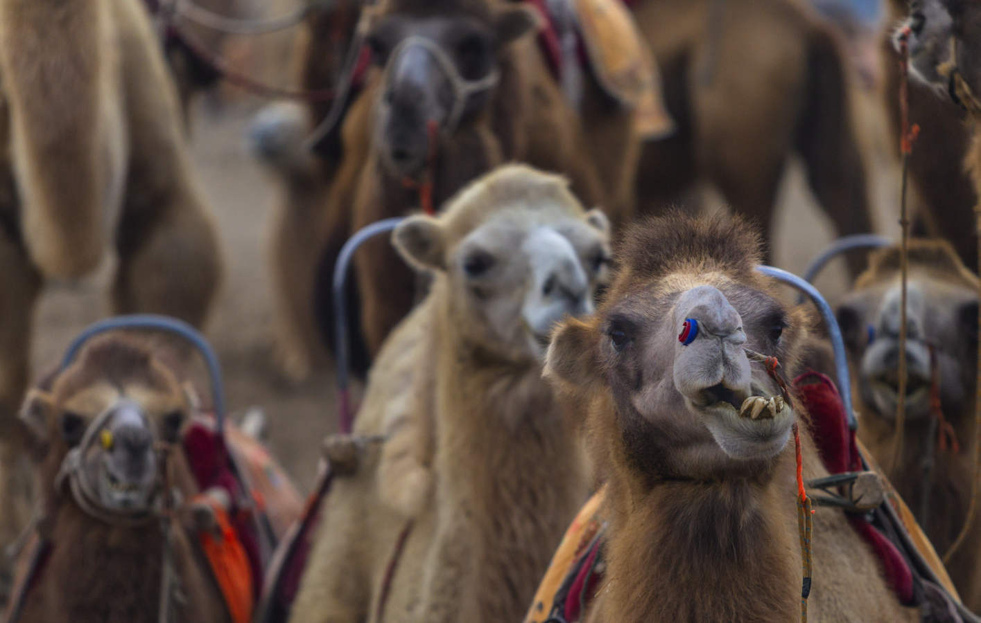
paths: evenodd
<path fill-rule="evenodd" d="M 897 282 L 900 274 L 900 253 L 896 248 L 876 252 L 871 257 L 868 269 L 859 275 L 847 301 L 861 301 L 859 297 L 868 296 L 869 302 L 877 302 L 886 287 Z M 909 280 L 924 291 L 925 298 L 940 310 L 953 310 L 956 303 L 952 293 L 961 296 L 976 296 L 978 279 L 960 263 L 953 247 L 944 241 L 913 240 L 909 250 Z M 969 299 L 968 299 L 969 300 Z M 945 301 L 947 301 L 945 303 Z M 855 304 L 852 303 L 852 306 Z M 858 306 L 864 307 L 859 303 Z M 934 453 L 934 472 L 929 485 L 929 514 L 919 517 L 919 521 L 933 543 L 934 548 L 943 554 L 954 543 L 963 526 L 970 500 L 971 479 L 974 473 L 972 440 L 975 437 L 974 420 L 974 382 L 975 359 L 970 348 L 962 349 L 959 336 L 960 327 L 950 327 L 937 333 L 942 323 L 940 317 L 934 318 L 934 326 L 924 327 L 925 338 L 937 343 L 940 350 L 957 358 L 955 368 L 959 374 L 955 378 L 941 378 L 943 383 L 951 383 L 960 388 L 959 404 L 944 400 L 944 418 L 953 424 L 955 437 L 959 440 L 960 451 L 940 451 Z M 867 318 L 866 318 L 867 319 Z M 967 319 L 970 322 L 969 319 Z M 954 340 L 945 336 L 955 335 Z M 976 348 L 976 347 L 975 347 Z M 855 389 L 852 395 L 860 413 L 858 436 L 875 460 L 887 470 L 890 481 L 904 500 L 918 512 L 924 494 L 922 460 L 924 443 L 936 443 L 929 435 L 927 420 L 904 422 L 903 454 L 898 463 L 893 464 L 894 435 L 896 431 L 895 413 L 882 413 L 871 404 L 863 404 L 860 384 L 867 382 L 855 368 L 852 354 L 852 379 Z M 948 369 L 948 368 L 943 368 Z M 975 521 L 972 530 L 960 550 L 947 565 L 961 599 L 973 611 L 981 610 L 981 562 L 977 551 L 981 549 L 981 522 Z"/>

